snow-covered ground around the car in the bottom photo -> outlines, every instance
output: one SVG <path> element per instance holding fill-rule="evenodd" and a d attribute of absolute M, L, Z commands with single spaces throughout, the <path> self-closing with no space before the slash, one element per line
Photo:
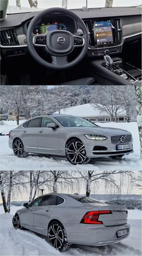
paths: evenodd
<path fill-rule="evenodd" d="M 4 214 L 0 207 L 1 255 L 141 255 L 141 211 L 128 211 L 131 233 L 123 242 L 101 247 L 73 245 L 69 251 L 58 252 L 42 237 L 13 228 L 12 214 L 18 209 L 11 207 L 11 214 Z"/>

